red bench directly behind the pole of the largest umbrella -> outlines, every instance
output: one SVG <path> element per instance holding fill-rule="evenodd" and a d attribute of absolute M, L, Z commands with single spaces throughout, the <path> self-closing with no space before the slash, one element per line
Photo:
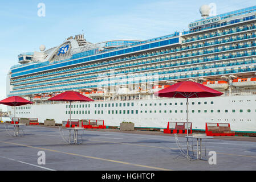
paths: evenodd
<path fill-rule="evenodd" d="M 192 133 L 192 123 L 188 122 L 188 132 Z M 174 134 L 174 133 L 180 133 L 180 134 L 186 134 L 186 122 L 168 122 L 167 128 L 164 129 L 164 133 L 168 134 Z"/>

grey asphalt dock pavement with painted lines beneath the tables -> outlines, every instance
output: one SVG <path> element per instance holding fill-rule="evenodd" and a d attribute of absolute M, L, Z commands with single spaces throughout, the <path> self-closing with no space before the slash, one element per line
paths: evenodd
<path fill-rule="evenodd" d="M 82 144 L 67 144 L 58 127 L 25 126 L 23 137 L 7 135 L 0 124 L 0 170 L 249 170 L 256 169 L 256 137 L 214 137 L 203 140 L 206 153 L 216 151 L 217 164 L 173 159 L 178 154 L 174 136 L 157 131 L 87 129 Z M 67 132 L 67 130 L 64 130 Z M 184 135 L 178 135 L 185 142 Z M 38 151 L 46 164 L 38 164 Z M 208 156 L 209 157 L 209 156 Z"/>

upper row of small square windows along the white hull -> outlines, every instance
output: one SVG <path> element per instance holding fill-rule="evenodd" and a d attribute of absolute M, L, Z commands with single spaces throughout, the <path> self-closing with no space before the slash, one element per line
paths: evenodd
<path fill-rule="evenodd" d="M 175 103 L 173 103 L 174 105 L 178 105 L 178 103 L 177 102 L 175 102 Z M 192 105 L 194 105 L 194 104 L 196 104 L 196 102 L 192 102 Z M 197 102 L 197 104 L 198 105 L 200 105 L 201 104 L 201 102 Z M 204 104 L 207 104 L 207 102 L 204 102 Z M 210 102 L 210 104 L 213 104 L 213 101 L 212 102 Z M 144 104 L 144 106 L 152 106 L 152 103 L 151 104 Z M 154 104 L 155 106 L 157 106 L 157 103 L 155 103 Z M 167 103 L 159 103 L 159 105 L 161 106 L 161 105 L 167 105 Z M 172 103 L 169 103 L 169 105 L 171 106 L 172 105 Z M 183 102 L 180 102 L 180 105 L 183 105 Z M 121 106 L 127 106 L 127 107 L 129 107 L 129 106 L 134 106 L 134 103 L 132 102 L 131 104 L 128 102 L 128 103 L 116 103 L 116 104 L 114 104 L 114 103 L 112 103 L 112 104 L 95 104 L 94 105 L 95 107 L 121 107 Z M 143 104 L 141 104 L 141 106 L 143 106 Z M 87 104 L 86 105 L 82 105 L 82 104 L 80 104 L 80 105 L 71 105 L 71 107 L 73 108 L 81 108 L 81 107 L 87 107 Z M 88 107 L 90 107 L 90 104 L 88 104 Z M 66 108 L 70 108 L 70 105 L 66 105 Z"/>

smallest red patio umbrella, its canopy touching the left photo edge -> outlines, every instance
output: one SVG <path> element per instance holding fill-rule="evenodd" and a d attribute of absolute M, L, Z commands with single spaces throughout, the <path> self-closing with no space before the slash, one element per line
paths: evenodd
<path fill-rule="evenodd" d="M 11 96 L 8 98 L 5 98 L 4 100 L 0 101 L 0 104 L 4 104 L 7 106 L 14 106 L 14 118 L 16 113 L 16 106 L 22 106 L 27 104 L 33 104 L 33 102 L 26 100 L 25 98 L 19 97 L 19 96 Z"/>

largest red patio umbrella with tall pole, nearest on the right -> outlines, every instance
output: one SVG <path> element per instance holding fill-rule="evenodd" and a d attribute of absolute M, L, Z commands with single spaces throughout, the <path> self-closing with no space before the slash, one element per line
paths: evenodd
<path fill-rule="evenodd" d="M 186 135 L 188 136 L 188 98 L 196 97 L 217 97 L 221 96 L 223 93 L 218 92 L 208 86 L 198 84 L 193 81 L 181 81 L 174 85 L 168 86 L 165 89 L 159 90 L 154 93 L 155 96 L 159 97 L 176 97 L 176 98 L 186 98 Z M 188 145 L 188 138 L 187 138 Z M 187 150 L 188 152 L 188 150 Z"/>

